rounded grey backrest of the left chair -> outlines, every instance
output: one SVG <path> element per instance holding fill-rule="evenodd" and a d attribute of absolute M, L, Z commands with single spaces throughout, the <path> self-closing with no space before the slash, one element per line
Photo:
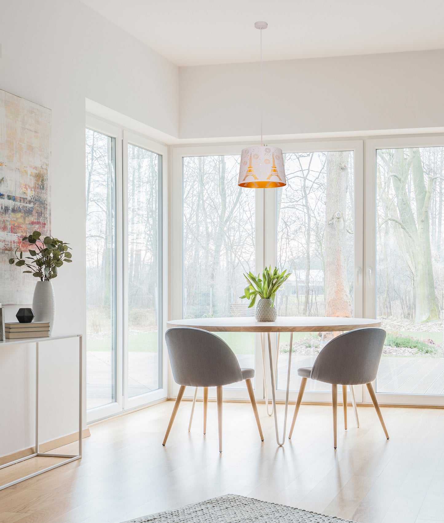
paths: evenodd
<path fill-rule="evenodd" d="M 214 387 L 242 381 L 235 353 L 211 332 L 191 327 L 165 333 L 174 381 L 192 387 Z"/>

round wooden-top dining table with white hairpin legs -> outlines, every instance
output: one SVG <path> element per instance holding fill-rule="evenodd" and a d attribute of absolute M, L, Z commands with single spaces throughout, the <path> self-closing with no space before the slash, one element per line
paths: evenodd
<path fill-rule="evenodd" d="M 186 320 L 170 320 L 167 321 L 168 328 L 175 327 L 193 327 L 199 328 L 209 332 L 252 332 L 261 334 L 262 346 L 262 365 L 264 371 L 264 390 L 265 390 L 265 404 L 267 414 L 272 416 L 274 414 L 274 426 L 276 431 L 276 442 L 279 447 L 285 443 L 285 436 L 287 430 L 287 413 L 288 413 L 288 395 L 290 390 L 290 372 L 291 372 L 291 351 L 293 348 L 293 333 L 294 332 L 345 332 L 353 331 L 356 328 L 365 327 L 380 327 L 381 322 L 378 320 L 367 318 L 345 318 L 345 317 L 323 317 L 323 316 L 279 316 L 275 322 L 258 322 L 251 316 L 236 316 L 226 318 L 193 318 Z M 287 371 L 287 386 L 285 395 L 285 413 L 284 413 L 284 429 L 282 441 L 279 439 L 279 427 L 277 422 L 276 412 L 276 374 L 277 374 L 277 359 L 279 356 L 279 340 L 282 332 L 290 333 L 290 347 L 288 353 L 288 371 Z M 264 336 L 267 334 L 268 339 L 268 362 L 270 368 L 270 380 L 272 390 L 272 411 L 268 410 L 268 392 L 265 380 L 265 343 Z M 273 365 L 271 333 L 277 333 L 277 344 L 275 362 Z M 354 397 L 353 388 L 350 388 L 352 393 L 353 407 L 356 411 L 356 401 Z M 196 394 L 194 394 L 196 397 Z M 357 419 L 357 418 L 356 418 Z"/>

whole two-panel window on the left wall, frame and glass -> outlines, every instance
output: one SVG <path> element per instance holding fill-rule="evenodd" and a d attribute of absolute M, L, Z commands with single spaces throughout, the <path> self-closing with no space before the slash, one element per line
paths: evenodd
<path fill-rule="evenodd" d="M 165 147 L 88 119 L 88 420 L 166 397 L 162 350 Z"/>

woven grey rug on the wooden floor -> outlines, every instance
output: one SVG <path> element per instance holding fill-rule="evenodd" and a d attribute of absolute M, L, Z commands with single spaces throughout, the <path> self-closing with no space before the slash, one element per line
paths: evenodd
<path fill-rule="evenodd" d="M 353 523 L 251 497 L 226 496 L 132 519 L 125 523 Z"/>

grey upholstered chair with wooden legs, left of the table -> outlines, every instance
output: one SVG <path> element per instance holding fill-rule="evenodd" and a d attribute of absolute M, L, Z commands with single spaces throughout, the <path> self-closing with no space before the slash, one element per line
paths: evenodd
<path fill-rule="evenodd" d="M 258 408 L 254 400 L 251 378 L 254 369 L 241 369 L 235 353 L 215 334 L 191 327 L 170 328 L 165 333 L 168 354 L 174 381 L 180 385 L 176 403 L 171 414 L 163 446 L 167 442 L 174 418 L 176 417 L 185 387 L 204 388 L 204 434 L 206 433 L 206 411 L 208 387 L 217 388 L 217 414 L 219 425 L 219 452 L 222 452 L 222 388 L 223 385 L 245 380 L 259 435 L 264 440 Z"/>

